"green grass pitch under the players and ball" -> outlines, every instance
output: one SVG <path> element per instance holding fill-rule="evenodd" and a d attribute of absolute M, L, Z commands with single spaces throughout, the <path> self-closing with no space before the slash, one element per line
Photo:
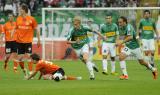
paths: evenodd
<path fill-rule="evenodd" d="M 137 61 L 127 61 L 129 80 L 119 80 L 118 76 L 102 75 L 101 61 L 95 61 L 100 72 L 96 79 L 89 80 L 86 66 L 80 61 L 54 61 L 64 68 L 67 75 L 82 76 L 79 81 L 24 80 L 23 73 L 15 74 L 12 63 L 9 71 L 0 68 L 0 95 L 159 95 L 160 78 L 152 79 L 152 74 Z M 157 67 L 160 63 L 156 61 Z M 0 63 L 3 67 L 3 63 Z M 117 62 L 117 72 L 121 73 Z M 109 65 L 110 67 L 110 65 Z"/>

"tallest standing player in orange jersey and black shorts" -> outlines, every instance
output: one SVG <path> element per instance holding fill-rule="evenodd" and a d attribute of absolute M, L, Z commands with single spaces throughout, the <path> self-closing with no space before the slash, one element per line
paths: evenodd
<path fill-rule="evenodd" d="M 32 53 L 32 41 L 34 31 L 37 33 L 37 46 L 40 46 L 40 31 L 37 29 L 37 21 L 34 17 L 28 15 L 28 6 L 22 4 L 20 6 L 20 14 L 16 19 L 17 31 L 17 47 L 18 47 L 18 61 L 25 76 L 27 77 L 27 70 L 24 68 L 24 60 L 27 59 L 30 74 L 32 73 L 32 62 L 30 54 Z M 24 56 L 25 55 L 25 56 Z"/>

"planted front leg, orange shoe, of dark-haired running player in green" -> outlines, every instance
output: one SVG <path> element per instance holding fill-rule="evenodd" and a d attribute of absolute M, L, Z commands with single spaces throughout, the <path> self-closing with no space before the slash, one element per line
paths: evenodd
<path fill-rule="evenodd" d="M 119 54 L 120 68 L 122 70 L 122 75 L 120 76 L 120 79 L 128 79 L 128 73 L 125 62 L 125 59 L 127 58 L 128 55 L 130 55 L 130 49 L 124 47 L 121 53 Z"/>

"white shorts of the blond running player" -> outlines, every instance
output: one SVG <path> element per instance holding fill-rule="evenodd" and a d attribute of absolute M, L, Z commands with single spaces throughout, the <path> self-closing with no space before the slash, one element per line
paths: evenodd
<path fill-rule="evenodd" d="M 88 53 L 89 54 L 89 45 L 85 44 L 81 49 L 75 49 L 75 52 L 76 52 L 78 57 L 80 57 L 84 53 Z"/>

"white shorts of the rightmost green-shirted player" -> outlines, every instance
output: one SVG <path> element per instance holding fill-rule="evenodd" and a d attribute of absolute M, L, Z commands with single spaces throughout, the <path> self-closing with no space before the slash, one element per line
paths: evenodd
<path fill-rule="evenodd" d="M 142 39 L 142 48 L 143 51 L 155 50 L 154 39 Z"/>

